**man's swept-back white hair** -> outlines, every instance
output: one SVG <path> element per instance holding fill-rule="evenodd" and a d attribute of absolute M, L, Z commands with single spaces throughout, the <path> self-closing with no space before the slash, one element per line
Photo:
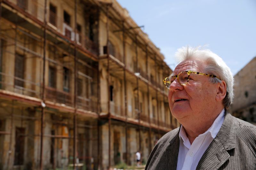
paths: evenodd
<path fill-rule="evenodd" d="M 184 60 L 199 60 L 205 65 L 204 73 L 213 74 L 218 76 L 218 78 L 210 78 L 211 83 L 219 83 L 221 80 L 225 81 L 227 84 L 227 94 L 223 99 L 223 105 L 226 109 L 232 104 L 234 99 L 234 78 L 231 73 L 230 68 L 218 55 L 214 54 L 209 49 L 202 49 L 201 46 L 192 48 L 190 46 L 181 47 L 175 53 L 178 62 Z"/>

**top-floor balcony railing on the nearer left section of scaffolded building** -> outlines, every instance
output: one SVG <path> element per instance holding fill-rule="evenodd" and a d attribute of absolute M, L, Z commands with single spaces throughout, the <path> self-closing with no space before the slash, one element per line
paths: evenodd
<path fill-rule="evenodd" d="M 37 2 L 36 0 L 7 0 L 10 3 L 17 6 L 17 8 L 24 10 L 25 12 L 31 14 L 31 17 L 35 17 L 40 21 L 44 21 L 44 4 Z M 69 41 L 75 41 L 75 29 L 68 26 L 64 20 L 58 17 L 54 12 L 47 10 L 47 21 L 50 25 L 54 26 L 55 29 L 63 34 Z M 85 35 L 78 33 L 76 37 L 79 37 L 77 44 L 82 48 L 92 52 L 97 55 L 98 45 L 91 41 Z"/>

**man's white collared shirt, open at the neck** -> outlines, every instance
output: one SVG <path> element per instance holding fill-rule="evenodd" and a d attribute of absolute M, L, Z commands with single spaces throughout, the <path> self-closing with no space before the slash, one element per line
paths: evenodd
<path fill-rule="evenodd" d="M 203 134 L 196 137 L 192 144 L 186 135 L 184 127 L 180 127 L 180 148 L 177 163 L 177 170 L 195 170 L 204 152 L 216 137 L 224 121 L 225 109 L 223 108 L 219 116 L 212 123 L 212 126 Z"/>

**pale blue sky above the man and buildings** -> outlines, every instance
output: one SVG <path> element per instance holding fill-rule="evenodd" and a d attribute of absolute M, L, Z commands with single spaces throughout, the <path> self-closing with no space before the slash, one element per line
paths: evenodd
<path fill-rule="evenodd" d="M 256 56 L 256 0 L 117 0 L 174 70 L 178 48 L 207 46 L 233 75 Z M 256 66 L 255 66 L 256 67 Z"/>

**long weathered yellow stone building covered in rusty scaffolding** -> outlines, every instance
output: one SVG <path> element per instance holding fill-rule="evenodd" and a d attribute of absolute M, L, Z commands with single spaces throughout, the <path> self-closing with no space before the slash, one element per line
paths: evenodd
<path fill-rule="evenodd" d="M 172 70 L 115 0 L 2 0 L 0 47 L 0 169 L 145 162 L 179 125 Z"/>

